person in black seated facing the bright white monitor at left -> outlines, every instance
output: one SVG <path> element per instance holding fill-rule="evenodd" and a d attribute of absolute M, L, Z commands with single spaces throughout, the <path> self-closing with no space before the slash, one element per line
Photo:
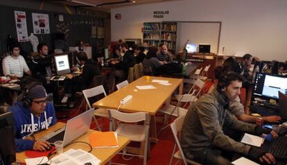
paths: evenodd
<path fill-rule="evenodd" d="M 101 69 L 98 67 L 98 64 L 93 59 L 88 59 L 85 52 L 79 52 L 77 54 L 77 61 L 84 67 L 82 67 L 82 74 L 80 76 L 69 77 L 71 80 L 67 82 L 65 94 L 66 97 L 71 97 L 71 101 L 74 100 L 74 94 L 76 92 L 87 89 L 89 85 L 91 85 L 94 76 L 101 74 Z M 63 101 L 63 103 L 64 102 L 65 101 Z"/>

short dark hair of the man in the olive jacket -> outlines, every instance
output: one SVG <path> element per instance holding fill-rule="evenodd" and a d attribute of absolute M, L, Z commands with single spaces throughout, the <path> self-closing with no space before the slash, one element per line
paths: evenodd
<path fill-rule="evenodd" d="M 243 76 L 239 73 L 235 73 L 234 71 L 229 71 L 221 74 L 218 78 L 217 89 L 220 91 L 224 87 L 228 87 L 232 81 L 238 80 L 239 82 L 243 82 Z"/>

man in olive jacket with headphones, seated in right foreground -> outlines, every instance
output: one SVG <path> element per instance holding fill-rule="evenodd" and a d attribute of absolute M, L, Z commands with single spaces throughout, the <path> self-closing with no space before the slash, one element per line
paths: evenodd
<path fill-rule="evenodd" d="M 278 134 L 251 123 L 238 121 L 229 112 L 229 101 L 233 101 L 242 87 L 243 77 L 238 73 L 228 72 L 218 80 L 217 87 L 211 94 L 205 94 L 198 99 L 187 112 L 182 126 L 182 150 L 187 159 L 193 159 L 200 164 L 231 164 L 221 155 L 222 151 L 241 153 L 252 159 L 267 164 L 275 163 L 275 157 L 264 150 L 247 146 L 229 138 L 223 132 L 223 124 L 229 128 L 261 135 Z"/>

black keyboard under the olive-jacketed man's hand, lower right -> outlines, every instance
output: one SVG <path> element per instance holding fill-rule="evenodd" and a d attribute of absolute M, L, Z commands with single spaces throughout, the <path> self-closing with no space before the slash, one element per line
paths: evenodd
<path fill-rule="evenodd" d="M 287 137 L 280 136 L 267 144 L 267 151 L 277 159 L 287 159 Z"/>

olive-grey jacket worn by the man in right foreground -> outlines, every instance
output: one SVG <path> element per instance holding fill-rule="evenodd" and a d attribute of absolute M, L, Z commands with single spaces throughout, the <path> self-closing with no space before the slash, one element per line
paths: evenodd
<path fill-rule="evenodd" d="M 184 152 L 198 151 L 209 146 L 247 155 L 250 146 L 230 139 L 223 133 L 229 128 L 254 134 L 256 125 L 238 121 L 225 109 L 226 99 L 216 89 L 196 101 L 187 112 L 182 127 L 181 144 Z"/>

